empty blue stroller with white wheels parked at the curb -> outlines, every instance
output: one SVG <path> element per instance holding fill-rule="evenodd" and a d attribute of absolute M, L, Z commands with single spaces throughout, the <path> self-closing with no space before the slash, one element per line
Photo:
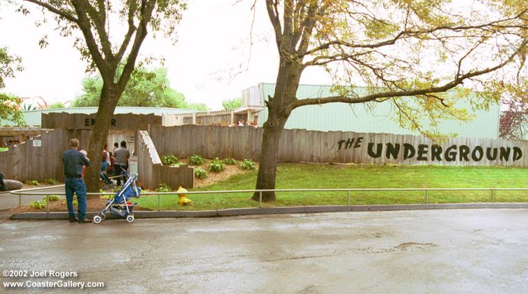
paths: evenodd
<path fill-rule="evenodd" d="M 125 185 L 121 187 L 121 190 L 116 193 L 113 199 L 110 199 L 106 203 L 105 209 L 94 217 L 94 223 L 100 223 L 106 218 L 105 213 L 109 210 L 110 214 L 115 215 L 116 217 L 121 217 L 127 219 L 129 223 L 134 221 L 134 205 L 137 203 L 127 202 L 132 198 L 139 198 L 141 193 L 141 188 L 137 187 L 136 180 L 138 174 L 128 178 Z"/>

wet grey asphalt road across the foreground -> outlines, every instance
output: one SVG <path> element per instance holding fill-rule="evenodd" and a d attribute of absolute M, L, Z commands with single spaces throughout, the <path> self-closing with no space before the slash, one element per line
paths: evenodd
<path fill-rule="evenodd" d="M 105 282 L 83 293 L 528 293 L 528 210 L 6 221 L 0 269 Z"/>

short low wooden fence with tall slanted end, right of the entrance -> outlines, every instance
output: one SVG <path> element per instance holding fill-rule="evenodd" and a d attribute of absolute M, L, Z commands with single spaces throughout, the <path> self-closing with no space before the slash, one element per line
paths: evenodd
<path fill-rule="evenodd" d="M 136 141 L 138 174 L 143 187 L 155 190 L 160 183 L 169 185 L 173 189 L 179 186 L 186 189 L 194 187 L 194 167 L 163 165 L 147 131 L 137 131 Z"/>

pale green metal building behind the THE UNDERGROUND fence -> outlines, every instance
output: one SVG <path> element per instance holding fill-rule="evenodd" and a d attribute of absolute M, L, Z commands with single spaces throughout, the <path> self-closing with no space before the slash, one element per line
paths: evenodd
<path fill-rule="evenodd" d="M 243 91 L 243 106 L 263 106 L 268 96 L 273 96 L 275 84 L 260 83 Z M 301 84 L 297 98 L 317 98 L 332 95 L 331 86 Z M 500 106 L 491 104 L 488 110 L 471 111 L 467 102 L 457 107 L 466 107 L 475 119 L 470 122 L 444 120 L 439 123 L 442 134 L 455 133 L 464 138 L 499 138 Z M 355 131 L 358 133 L 418 134 L 399 126 L 396 111 L 389 102 L 376 104 L 367 109 L 364 104 L 328 103 L 299 107 L 292 111 L 286 129 L 308 129 L 314 131 Z M 252 120 L 262 126 L 267 120 L 267 108 L 256 113 Z"/>

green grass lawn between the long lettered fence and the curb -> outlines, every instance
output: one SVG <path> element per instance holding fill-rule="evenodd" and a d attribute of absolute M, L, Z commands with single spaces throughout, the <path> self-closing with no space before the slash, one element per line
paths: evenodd
<path fill-rule="evenodd" d="M 231 176 L 195 191 L 254 189 L 256 171 Z M 411 188 L 411 187 L 528 187 L 528 169 L 518 167 L 441 167 L 392 165 L 315 165 L 282 163 L 277 189 L 295 188 Z M 161 196 L 162 210 L 252 208 L 251 194 L 189 195 L 193 205 L 182 207 L 176 195 Z M 490 202 L 489 191 L 430 191 L 429 203 Z M 278 192 L 270 206 L 346 205 L 346 192 Z M 351 205 L 424 203 L 424 192 L 353 192 Z M 495 202 L 528 201 L 528 191 L 495 191 Z M 157 196 L 138 199 L 143 208 L 157 210 Z"/>

